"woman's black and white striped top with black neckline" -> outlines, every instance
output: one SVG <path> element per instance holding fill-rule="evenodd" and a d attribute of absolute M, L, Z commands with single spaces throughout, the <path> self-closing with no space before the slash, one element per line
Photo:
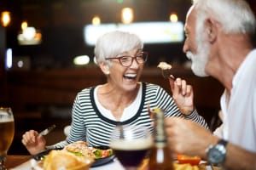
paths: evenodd
<path fill-rule="evenodd" d="M 148 127 L 153 132 L 152 120 L 148 116 L 148 103 L 150 103 L 151 108 L 159 107 L 163 109 L 166 117 L 177 116 L 191 119 L 207 128 L 207 122 L 205 122 L 202 116 L 197 114 L 197 111 L 193 111 L 189 116 L 184 116 L 177 108 L 172 97 L 163 88 L 148 82 L 142 82 L 141 104 L 137 111 L 135 111 L 135 116 L 124 122 L 113 121 L 103 116 L 96 107 L 94 98 L 95 88 L 84 88 L 76 96 L 73 103 L 70 133 L 65 141 L 55 144 L 53 147 L 61 148 L 66 144 L 79 140 L 84 140 L 92 146 L 108 145 L 113 128 L 117 124 L 140 124 Z"/>

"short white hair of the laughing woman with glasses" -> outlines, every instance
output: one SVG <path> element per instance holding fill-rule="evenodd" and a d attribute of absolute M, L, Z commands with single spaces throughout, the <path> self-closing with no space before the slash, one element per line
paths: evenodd
<path fill-rule="evenodd" d="M 143 42 L 133 33 L 126 31 L 111 31 L 97 39 L 94 53 L 96 62 L 105 62 L 110 65 L 108 57 L 115 57 L 133 49 L 143 49 Z"/>

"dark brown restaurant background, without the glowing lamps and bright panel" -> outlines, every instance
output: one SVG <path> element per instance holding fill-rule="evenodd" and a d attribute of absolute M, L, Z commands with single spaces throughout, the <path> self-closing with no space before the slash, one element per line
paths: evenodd
<path fill-rule="evenodd" d="M 248 3 L 256 11 L 255 1 Z M 135 22 L 167 21 L 171 12 L 184 21 L 189 6 L 190 0 L 1 0 L 0 12 L 9 10 L 12 17 L 8 27 L 0 27 L 0 105 L 12 107 L 15 114 L 15 140 L 9 154 L 28 154 L 20 140 L 31 128 L 39 131 L 55 123 L 57 128 L 47 136 L 48 144 L 64 139 L 62 130 L 70 123 L 75 95 L 82 88 L 105 82 L 96 65 L 78 68 L 72 61 L 78 54 L 93 57 L 93 47 L 86 46 L 83 39 L 83 28 L 93 15 L 99 14 L 102 23 L 118 23 L 121 8 L 132 7 Z M 42 44 L 18 45 L 16 36 L 23 20 L 40 29 Z M 210 125 L 218 114 L 223 88 L 212 77 L 195 77 L 184 66 L 187 59 L 182 47 L 183 43 L 145 45 L 149 59 L 142 81 L 159 84 L 171 94 L 168 82 L 155 68 L 160 60 L 170 62 L 173 74 L 194 86 L 195 105 Z M 30 68 L 5 71 L 5 48 L 13 49 L 14 58 L 30 59 Z"/>

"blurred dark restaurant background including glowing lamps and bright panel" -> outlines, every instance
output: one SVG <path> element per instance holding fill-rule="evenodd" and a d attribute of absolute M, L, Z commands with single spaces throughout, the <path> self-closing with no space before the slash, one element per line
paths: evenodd
<path fill-rule="evenodd" d="M 255 1 L 247 2 L 256 11 Z M 214 129 L 224 88 L 212 77 L 195 77 L 183 54 L 183 24 L 190 4 L 190 0 L 1 0 L 0 105 L 11 107 L 15 115 L 9 154 L 28 154 L 21 138 L 29 129 L 41 131 L 55 124 L 47 144 L 65 139 L 63 128 L 71 122 L 76 94 L 105 82 L 94 62 L 96 38 L 115 29 L 134 31 L 145 42 L 149 59 L 141 80 L 159 84 L 171 94 L 156 68 L 160 61 L 170 63 L 175 77 L 193 85 L 195 106 Z"/>

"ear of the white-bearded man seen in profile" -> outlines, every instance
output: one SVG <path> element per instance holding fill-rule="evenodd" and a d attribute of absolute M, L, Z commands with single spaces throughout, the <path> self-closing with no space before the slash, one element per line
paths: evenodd
<path fill-rule="evenodd" d="M 217 22 L 212 18 L 208 18 L 205 21 L 205 31 L 207 40 L 211 43 L 214 42 L 218 33 Z"/>

